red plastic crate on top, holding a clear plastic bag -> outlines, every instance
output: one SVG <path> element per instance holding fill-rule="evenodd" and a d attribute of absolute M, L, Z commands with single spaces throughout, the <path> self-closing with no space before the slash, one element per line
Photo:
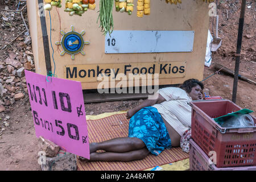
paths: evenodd
<path fill-rule="evenodd" d="M 256 166 L 255 125 L 230 129 L 221 127 L 212 119 L 241 110 L 241 107 L 229 100 L 192 101 L 191 106 L 192 139 L 208 156 L 215 152 L 218 168 Z"/>

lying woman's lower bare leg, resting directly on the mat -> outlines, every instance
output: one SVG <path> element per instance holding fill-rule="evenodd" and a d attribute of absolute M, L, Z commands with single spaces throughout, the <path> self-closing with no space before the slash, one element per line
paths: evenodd
<path fill-rule="evenodd" d="M 89 161 L 129 162 L 131 160 L 144 159 L 148 154 L 150 154 L 150 151 L 148 151 L 146 147 L 129 152 L 93 152 L 90 154 Z"/>

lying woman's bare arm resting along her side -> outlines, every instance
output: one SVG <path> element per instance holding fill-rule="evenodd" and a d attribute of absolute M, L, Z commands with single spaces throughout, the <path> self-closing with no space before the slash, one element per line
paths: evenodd
<path fill-rule="evenodd" d="M 135 113 L 137 113 L 143 107 L 148 107 L 148 106 L 152 106 L 152 105 L 155 105 L 155 104 L 160 104 L 161 102 L 164 102 L 164 101 L 166 101 L 165 98 L 163 98 L 163 96 L 161 96 L 160 94 L 157 93 L 154 96 L 151 96 L 150 99 L 147 98 L 147 100 L 144 100 L 140 105 L 134 107 L 133 109 L 130 109 L 127 112 L 126 118 L 127 119 L 131 118 Z"/>

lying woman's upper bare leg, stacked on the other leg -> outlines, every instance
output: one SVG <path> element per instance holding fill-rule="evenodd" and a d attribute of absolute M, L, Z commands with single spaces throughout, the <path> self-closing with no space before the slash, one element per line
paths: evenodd
<path fill-rule="evenodd" d="M 90 143 L 90 153 L 97 150 L 104 150 L 106 152 L 129 152 L 134 150 L 140 150 L 146 145 L 139 138 L 114 138 L 106 140 L 104 142 Z"/>

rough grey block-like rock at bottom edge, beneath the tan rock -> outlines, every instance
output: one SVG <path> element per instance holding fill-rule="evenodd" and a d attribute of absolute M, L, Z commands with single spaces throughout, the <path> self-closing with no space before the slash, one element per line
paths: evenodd
<path fill-rule="evenodd" d="M 41 157 L 42 158 L 42 157 Z M 40 158 L 39 158 L 39 162 Z M 45 164 L 41 164 L 42 171 L 76 171 L 76 155 L 60 150 L 55 158 L 46 157 Z"/>

